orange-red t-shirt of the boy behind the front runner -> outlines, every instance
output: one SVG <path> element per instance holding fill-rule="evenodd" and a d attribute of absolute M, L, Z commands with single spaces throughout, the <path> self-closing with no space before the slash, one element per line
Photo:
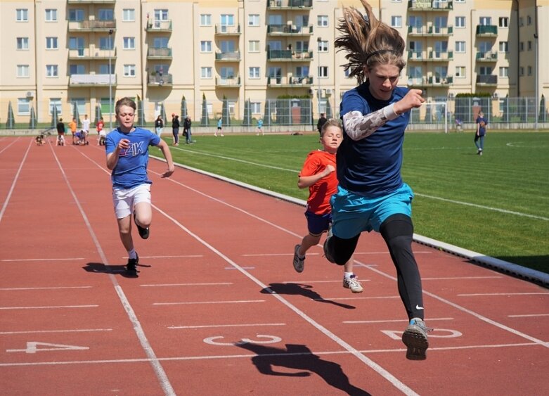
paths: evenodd
<path fill-rule="evenodd" d="M 330 154 L 328 151 L 311 151 L 303 164 L 299 176 L 313 176 L 325 170 L 326 166 L 332 165 L 335 167 L 335 154 Z M 309 186 L 309 199 L 307 200 L 307 210 L 316 215 L 325 215 L 331 212 L 330 198 L 337 191 L 337 175 L 336 172 L 328 174 L 318 180 L 312 186 Z"/>

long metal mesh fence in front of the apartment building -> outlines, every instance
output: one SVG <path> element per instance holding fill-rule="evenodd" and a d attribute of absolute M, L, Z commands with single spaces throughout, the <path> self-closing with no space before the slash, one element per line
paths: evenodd
<path fill-rule="evenodd" d="M 314 129 L 320 113 L 325 113 L 328 118 L 337 118 L 340 107 L 340 100 L 333 96 L 322 98 L 320 103 L 316 98 L 279 98 L 262 102 L 250 99 L 243 102 L 231 99 L 143 102 L 138 97 L 135 99 L 138 106 L 136 125 L 143 127 L 152 127 L 157 115 L 162 115 L 164 127 L 169 127 L 172 114 L 177 114 L 181 120 L 189 115 L 193 120 L 193 127 L 215 127 L 220 118 L 224 127 L 248 127 L 255 126 L 261 118 L 264 127 L 311 126 Z M 109 103 L 104 99 L 97 101 L 94 106 L 84 101 L 11 103 L 0 100 L 0 129 L 47 129 L 55 127 L 60 118 L 63 118 L 63 122 L 70 122 L 75 117 L 81 122 L 84 114 L 89 115 L 92 125 L 103 117 L 106 127 L 111 123 L 115 127 L 115 115 L 111 113 L 113 106 L 114 100 Z M 413 109 L 410 124 L 415 129 L 432 129 L 429 126 L 440 127 L 446 122 L 453 127 L 458 122 L 474 123 L 479 111 L 484 113 L 489 124 L 498 124 L 502 129 L 520 128 L 521 124 L 549 122 L 548 107 L 543 96 L 538 103 L 535 98 L 442 97 Z"/>

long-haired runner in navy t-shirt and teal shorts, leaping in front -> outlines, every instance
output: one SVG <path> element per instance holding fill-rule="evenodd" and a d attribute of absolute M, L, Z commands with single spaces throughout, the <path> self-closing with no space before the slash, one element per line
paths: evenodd
<path fill-rule="evenodd" d="M 397 87 L 406 65 L 406 42 L 399 32 L 366 13 L 344 7 L 335 47 L 347 52 L 349 77 L 359 86 L 347 91 L 340 103 L 344 135 L 337 150 L 337 193 L 332 196 L 332 227 L 324 242 L 330 262 L 345 264 L 363 231 L 380 232 L 394 266 L 408 326 L 402 341 L 406 358 L 426 359 L 422 286 L 412 251 L 413 192 L 401 178 L 404 132 L 411 110 L 425 99 L 420 89 Z"/>

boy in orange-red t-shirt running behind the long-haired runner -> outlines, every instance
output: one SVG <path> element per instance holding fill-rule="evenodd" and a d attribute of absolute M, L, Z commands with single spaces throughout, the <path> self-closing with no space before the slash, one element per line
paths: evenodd
<path fill-rule="evenodd" d="M 342 127 L 337 120 L 328 120 L 321 129 L 323 150 L 311 151 L 299 172 L 297 186 L 299 189 L 309 187 L 309 199 L 305 217 L 309 234 L 303 237 L 302 243 L 294 248 L 294 269 L 303 272 L 305 253 L 317 245 L 324 232 L 332 222 L 330 198 L 337 191 L 335 174 L 335 153 L 343 139 Z M 343 287 L 353 293 L 361 293 L 363 288 L 353 273 L 353 256 L 344 265 Z"/>

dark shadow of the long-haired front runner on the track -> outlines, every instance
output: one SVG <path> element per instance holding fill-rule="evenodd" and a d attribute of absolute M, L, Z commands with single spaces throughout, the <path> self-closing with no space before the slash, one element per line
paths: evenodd
<path fill-rule="evenodd" d="M 349 378 L 345 375 L 339 364 L 321 359 L 314 355 L 305 345 L 286 344 L 286 349 L 254 343 L 237 343 L 236 345 L 245 350 L 250 350 L 257 355 L 252 357 L 252 363 L 262 374 L 268 376 L 308 377 L 311 376 L 311 373 L 316 373 L 328 385 L 346 392 L 347 395 L 370 395 L 370 393 L 351 385 Z M 273 366 L 304 371 L 283 373 L 274 371 Z"/>

